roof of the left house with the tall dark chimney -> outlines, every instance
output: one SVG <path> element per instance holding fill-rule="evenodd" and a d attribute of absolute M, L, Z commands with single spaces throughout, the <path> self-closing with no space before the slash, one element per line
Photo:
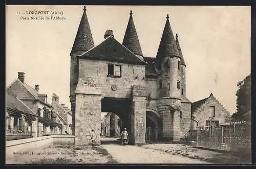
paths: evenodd
<path fill-rule="evenodd" d="M 23 82 L 20 81 L 18 78 L 17 78 L 14 82 L 12 82 L 12 83 L 7 87 L 7 89 L 8 89 L 13 83 L 15 83 L 15 82 L 17 82 L 19 85 L 22 85 L 22 86 L 32 95 L 32 98 L 28 98 L 28 99 L 31 99 L 31 100 L 38 100 L 41 104 L 44 104 L 44 105 L 46 105 L 46 106 L 48 106 L 48 107 L 52 107 L 50 104 L 45 103 L 44 101 L 42 101 L 42 100 L 38 97 L 37 91 L 36 91 L 33 87 L 29 86 L 29 85 L 26 84 L 26 83 L 23 83 Z M 10 92 L 12 92 L 12 91 L 10 91 Z M 9 94 L 11 94 L 11 93 L 9 93 Z M 12 95 L 13 95 L 13 94 L 12 94 Z M 22 99 L 21 99 L 21 100 L 22 100 Z"/>

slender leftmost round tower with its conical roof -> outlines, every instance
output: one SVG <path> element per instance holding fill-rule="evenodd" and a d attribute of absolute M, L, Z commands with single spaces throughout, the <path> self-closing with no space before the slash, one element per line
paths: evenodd
<path fill-rule="evenodd" d="M 77 30 L 75 41 L 70 53 L 70 103 L 72 111 L 72 132 L 74 134 L 75 125 L 75 90 L 78 83 L 78 56 L 94 47 L 93 37 L 88 22 L 86 7 L 83 9 L 83 15 Z"/>

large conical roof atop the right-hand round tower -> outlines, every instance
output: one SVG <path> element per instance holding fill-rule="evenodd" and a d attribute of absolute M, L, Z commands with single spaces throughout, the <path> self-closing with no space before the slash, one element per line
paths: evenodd
<path fill-rule="evenodd" d="M 170 28 L 169 15 L 167 14 L 166 23 L 164 26 L 156 58 L 161 59 L 171 56 L 180 57 L 172 28 Z"/>

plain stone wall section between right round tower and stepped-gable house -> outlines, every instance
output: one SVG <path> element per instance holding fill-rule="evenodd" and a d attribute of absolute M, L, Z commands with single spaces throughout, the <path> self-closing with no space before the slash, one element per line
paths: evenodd
<path fill-rule="evenodd" d="M 182 118 L 180 118 L 181 138 L 189 131 L 191 123 L 191 103 L 181 102 Z"/>

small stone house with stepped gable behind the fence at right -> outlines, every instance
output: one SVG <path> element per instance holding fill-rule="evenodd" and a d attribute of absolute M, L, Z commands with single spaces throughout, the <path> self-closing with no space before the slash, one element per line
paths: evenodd
<path fill-rule="evenodd" d="M 230 122 L 230 113 L 210 93 L 209 97 L 191 103 L 191 129 L 197 126 L 219 126 Z"/>

